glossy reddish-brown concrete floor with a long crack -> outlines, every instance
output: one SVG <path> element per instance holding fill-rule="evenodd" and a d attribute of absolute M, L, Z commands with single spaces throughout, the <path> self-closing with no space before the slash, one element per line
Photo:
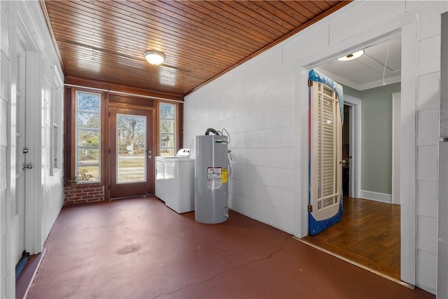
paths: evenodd
<path fill-rule="evenodd" d="M 230 211 L 202 224 L 156 197 L 64 207 L 27 298 L 435 298 Z"/>

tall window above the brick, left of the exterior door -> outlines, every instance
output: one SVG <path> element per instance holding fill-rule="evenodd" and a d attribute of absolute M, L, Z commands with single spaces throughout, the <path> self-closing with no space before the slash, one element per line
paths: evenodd
<path fill-rule="evenodd" d="M 77 183 L 101 180 L 101 94 L 76 92 L 76 158 Z"/>

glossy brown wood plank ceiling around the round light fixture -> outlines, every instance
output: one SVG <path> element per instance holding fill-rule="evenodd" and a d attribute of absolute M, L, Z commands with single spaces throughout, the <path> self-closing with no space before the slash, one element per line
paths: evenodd
<path fill-rule="evenodd" d="M 350 1 L 49 1 L 65 76 L 187 95 Z M 167 59 L 153 66 L 145 50 Z"/>

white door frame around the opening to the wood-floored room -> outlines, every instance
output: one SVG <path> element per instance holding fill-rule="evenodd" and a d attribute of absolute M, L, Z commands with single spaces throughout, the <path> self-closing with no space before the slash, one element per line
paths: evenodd
<path fill-rule="evenodd" d="M 401 92 L 402 99 L 400 107 L 400 193 L 401 198 L 401 227 L 406 228 L 406 233 L 402 233 L 401 238 L 401 259 L 400 278 L 408 284 L 416 283 L 416 81 L 419 41 L 415 39 L 417 33 L 416 14 L 409 12 L 395 18 L 393 22 L 385 23 L 374 30 L 369 29 L 359 34 L 350 36 L 350 39 L 336 42 L 327 48 L 309 55 L 309 57 L 295 63 L 295 123 L 297 132 L 296 146 L 298 151 L 295 155 L 295 190 L 297 200 L 295 204 L 295 229 L 294 235 L 304 237 L 308 235 L 308 211 L 307 199 L 309 193 L 308 165 L 307 157 L 308 132 L 307 132 L 307 77 L 308 69 L 316 67 L 324 62 L 328 62 L 351 53 L 353 50 L 365 48 L 375 43 L 379 43 L 391 36 L 401 34 L 402 36 L 402 73 Z"/>

